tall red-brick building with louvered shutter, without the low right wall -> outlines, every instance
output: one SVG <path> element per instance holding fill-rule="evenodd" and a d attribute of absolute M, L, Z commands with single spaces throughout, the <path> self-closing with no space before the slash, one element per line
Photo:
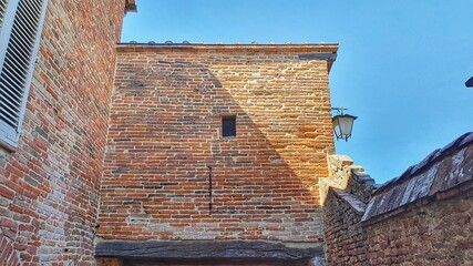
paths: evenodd
<path fill-rule="evenodd" d="M 134 8 L 1 2 L 2 264 L 94 264 L 117 239 L 323 257 L 337 45 L 116 48 Z"/>

